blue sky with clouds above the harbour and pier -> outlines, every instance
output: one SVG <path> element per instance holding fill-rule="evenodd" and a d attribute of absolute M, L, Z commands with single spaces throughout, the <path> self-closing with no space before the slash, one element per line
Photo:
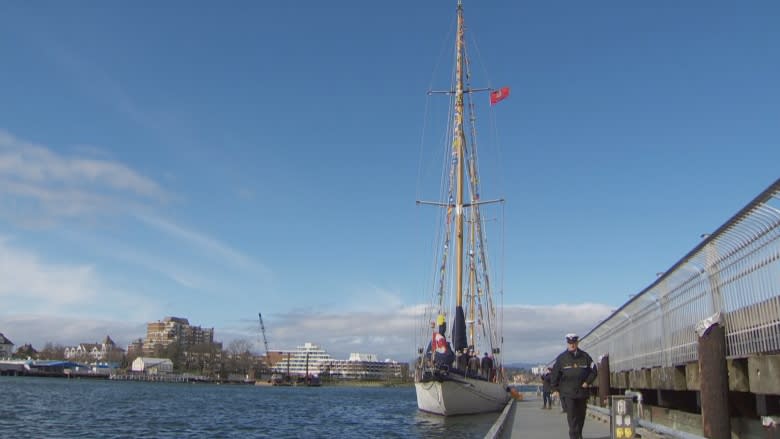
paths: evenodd
<path fill-rule="evenodd" d="M 260 352 L 262 312 L 272 349 L 411 357 L 454 4 L 0 5 L 0 332 Z M 547 361 L 778 178 L 780 4 L 465 7 L 474 85 L 512 88 L 506 359 Z"/>

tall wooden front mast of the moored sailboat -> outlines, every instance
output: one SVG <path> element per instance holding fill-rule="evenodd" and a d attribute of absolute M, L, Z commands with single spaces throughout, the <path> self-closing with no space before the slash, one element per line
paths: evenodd
<path fill-rule="evenodd" d="M 452 154 L 456 161 L 455 197 L 455 265 L 457 270 L 457 306 L 463 306 L 463 170 L 466 136 L 463 132 L 463 2 L 458 0 L 458 30 L 455 39 L 455 114 L 453 120 Z"/>

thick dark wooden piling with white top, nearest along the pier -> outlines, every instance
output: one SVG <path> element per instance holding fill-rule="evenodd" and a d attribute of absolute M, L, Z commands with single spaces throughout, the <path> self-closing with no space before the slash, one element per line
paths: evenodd
<path fill-rule="evenodd" d="M 701 378 L 701 420 L 704 437 L 731 438 L 726 329 L 719 315 L 696 325 Z"/>

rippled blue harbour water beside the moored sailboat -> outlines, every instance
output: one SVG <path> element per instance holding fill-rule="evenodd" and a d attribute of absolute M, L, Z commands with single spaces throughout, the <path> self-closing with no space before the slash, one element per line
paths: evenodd
<path fill-rule="evenodd" d="M 482 438 L 499 415 L 421 413 L 412 386 L 0 377 L 0 401 L 2 438 Z"/>

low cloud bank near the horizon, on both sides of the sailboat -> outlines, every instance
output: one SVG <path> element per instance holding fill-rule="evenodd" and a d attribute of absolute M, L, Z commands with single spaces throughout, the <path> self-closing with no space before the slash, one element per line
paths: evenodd
<path fill-rule="evenodd" d="M 565 349 L 564 336 L 582 335 L 609 315 L 613 307 L 596 303 L 552 306 L 508 305 L 504 308 L 504 359 L 507 362 L 548 362 Z M 381 308 L 375 312 L 295 312 L 264 314 L 269 347 L 291 349 L 306 341 L 321 345 L 336 358 L 350 352 L 409 361 L 417 346 L 419 320 L 425 305 Z M 262 352 L 257 322 L 216 328 L 225 341 L 244 338 Z"/>

